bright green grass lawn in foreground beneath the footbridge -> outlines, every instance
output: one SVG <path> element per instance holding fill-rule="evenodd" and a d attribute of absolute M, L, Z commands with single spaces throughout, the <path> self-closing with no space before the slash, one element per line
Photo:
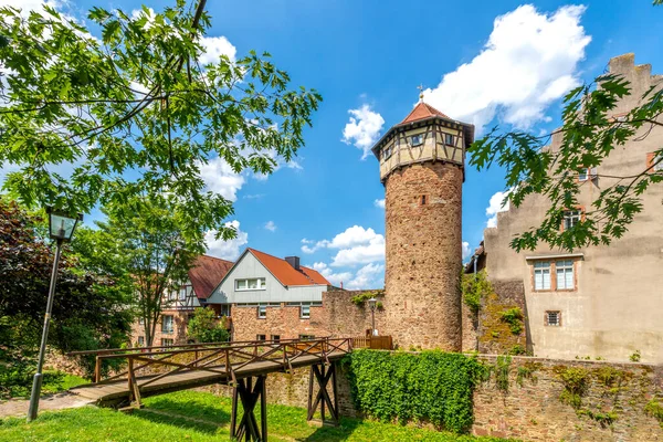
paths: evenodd
<path fill-rule="evenodd" d="M 0 441 L 218 441 L 229 438 L 230 400 L 211 393 L 181 391 L 145 400 L 145 409 L 123 414 L 86 407 L 0 420 Z M 338 428 L 316 428 L 306 410 L 267 406 L 271 441 L 440 441 L 487 442 L 491 438 L 459 436 L 427 429 L 343 419 Z"/>

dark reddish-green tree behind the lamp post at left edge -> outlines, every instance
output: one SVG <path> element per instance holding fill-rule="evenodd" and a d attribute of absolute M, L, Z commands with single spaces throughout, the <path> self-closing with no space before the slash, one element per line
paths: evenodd
<path fill-rule="evenodd" d="M 0 198 L 0 383 L 28 385 L 36 367 L 53 252 L 42 220 Z M 81 267 L 69 248 L 59 266 L 49 345 L 61 351 L 119 347 L 133 317 L 114 281 Z M 75 312 L 75 315 L 72 314 Z M 88 362 L 85 360 L 84 362 Z M 92 372 L 93 364 L 84 368 Z"/>

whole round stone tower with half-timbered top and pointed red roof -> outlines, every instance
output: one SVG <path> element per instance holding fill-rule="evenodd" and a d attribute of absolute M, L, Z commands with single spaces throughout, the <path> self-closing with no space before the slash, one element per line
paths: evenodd
<path fill-rule="evenodd" d="M 421 101 L 373 146 L 385 185 L 386 324 L 404 349 L 460 351 L 462 194 L 474 126 Z"/>

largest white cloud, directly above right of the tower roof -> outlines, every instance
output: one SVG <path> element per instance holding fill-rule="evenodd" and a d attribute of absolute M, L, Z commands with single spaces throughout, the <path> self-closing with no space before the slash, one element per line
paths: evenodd
<path fill-rule="evenodd" d="M 480 133 L 495 116 L 519 128 L 545 120 L 546 108 L 579 84 L 577 65 L 591 41 L 580 25 L 585 10 L 549 14 L 524 4 L 497 17 L 484 50 L 424 91 L 427 103 Z"/>

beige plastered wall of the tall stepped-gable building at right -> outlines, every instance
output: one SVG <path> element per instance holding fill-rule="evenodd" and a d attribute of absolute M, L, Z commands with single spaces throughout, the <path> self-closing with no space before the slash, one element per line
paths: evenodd
<path fill-rule="evenodd" d="M 632 84 L 632 96 L 620 103 L 617 114 L 631 109 L 663 76 L 651 76 L 651 66 L 634 65 L 633 54 L 610 61 L 610 72 L 622 74 Z M 662 119 L 663 120 L 663 119 Z M 643 127 L 636 137 L 650 129 Z M 559 149 L 554 137 L 550 148 Z M 618 147 L 598 170 L 607 176 L 640 173 L 648 152 L 661 147 L 663 127 L 654 127 L 642 140 Z M 599 177 L 580 188 L 579 201 L 591 210 L 591 201 L 615 181 Z M 527 328 L 536 356 L 572 359 L 576 356 L 628 360 L 635 350 L 643 361 L 663 362 L 663 185 L 651 186 L 643 196 L 644 210 L 629 231 L 609 246 L 589 246 L 575 252 L 577 288 L 565 292 L 535 292 L 532 260 L 527 256 L 565 254 L 539 245 L 533 252 L 516 253 L 509 242 L 517 233 L 537 225 L 549 208 L 548 201 L 533 196 L 519 208 L 498 213 L 497 228 L 484 232 L 487 272 L 492 281 L 519 280 L 524 283 Z M 554 277 L 554 275 L 551 275 Z M 561 326 L 545 325 L 547 311 L 561 312 Z"/>

